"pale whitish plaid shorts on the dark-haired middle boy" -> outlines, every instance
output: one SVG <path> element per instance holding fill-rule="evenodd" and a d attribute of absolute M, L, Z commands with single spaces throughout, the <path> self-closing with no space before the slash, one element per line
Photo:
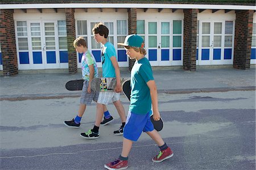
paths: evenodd
<path fill-rule="evenodd" d="M 108 105 L 109 102 L 115 102 L 120 99 L 120 93 L 115 92 L 100 92 L 98 96 L 98 103 Z"/>

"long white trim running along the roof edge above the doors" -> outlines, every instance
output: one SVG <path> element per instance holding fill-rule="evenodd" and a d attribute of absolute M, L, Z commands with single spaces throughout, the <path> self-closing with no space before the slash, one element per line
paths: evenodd
<path fill-rule="evenodd" d="M 197 5 L 163 3 L 34 3 L 2 4 L 0 9 L 52 9 L 52 8 L 151 8 L 151 9 L 216 9 L 216 10 L 256 10 L 256 6 L 243 5 Z"/>

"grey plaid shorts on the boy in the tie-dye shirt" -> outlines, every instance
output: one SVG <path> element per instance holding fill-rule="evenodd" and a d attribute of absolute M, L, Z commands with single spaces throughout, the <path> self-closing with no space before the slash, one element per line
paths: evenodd
<path fill-rule="evenodd" d="M 88 84 L 89 81 L 85 80 L 82 85 L 82 94 L 80 98 L 80 103 L 85 105 L 89 105 L 92 101 L 97 102 L 98 100 L 98 92 L 94 92 L 93 90 L 91 90 L 90 93 L 87 92 Z"/>

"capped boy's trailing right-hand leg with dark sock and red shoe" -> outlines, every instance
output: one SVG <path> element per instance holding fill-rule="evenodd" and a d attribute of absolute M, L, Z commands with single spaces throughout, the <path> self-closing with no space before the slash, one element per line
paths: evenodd
<path fill-rule="evenodd" d="M 159 132 L 156 130 L 146 132 L 155 142 L 158 144 L 160 152 L 158 155 L 152 158 L 152 161 L 155 163 L 160 163 L 163 160 L 166 160 L 174 155 L 171 148 L 164 143 L 162 137 L 160 136 Z"/>

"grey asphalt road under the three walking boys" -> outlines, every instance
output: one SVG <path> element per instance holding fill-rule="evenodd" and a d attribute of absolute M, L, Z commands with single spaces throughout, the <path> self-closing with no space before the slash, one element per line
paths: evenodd
<path fill-rule="evenodd" d="M 127 111 L 129 102 L 122 95 Z M 80 133 L 93 127 L 96 105 L 88 106 L 79 129 L 63 121 L 75 117 L 78 97 L 0 101 L 1 169 L 104 169 L 121 154 L 121 125 L 115 118 L 100 127 L 100 138 Z M 159 94 L 164 121 L 160 132 L 174 151 L 153 163 L 158 147 L 142 134 L 129 155 L 128 169 L 255 169 L 255 91 Z"/>

